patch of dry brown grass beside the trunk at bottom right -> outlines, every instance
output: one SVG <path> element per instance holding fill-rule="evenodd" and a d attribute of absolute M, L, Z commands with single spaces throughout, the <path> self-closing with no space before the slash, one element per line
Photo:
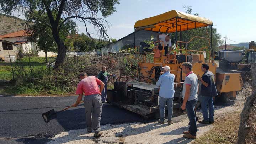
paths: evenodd
<path fill-rule="evenodd" d="M 240 112 L 233 112 L 230 114 L 216 114 L 214 127 L 197 138 L 194 144 L 233 144 L 236 143 Z"/>

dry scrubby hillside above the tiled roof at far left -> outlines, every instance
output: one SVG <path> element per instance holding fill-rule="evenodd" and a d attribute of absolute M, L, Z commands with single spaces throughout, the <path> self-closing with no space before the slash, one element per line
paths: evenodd
<path fill-rule="evenodd" d="M 0 13 L 0 35 L 24 30 L 25 20 Z"/>

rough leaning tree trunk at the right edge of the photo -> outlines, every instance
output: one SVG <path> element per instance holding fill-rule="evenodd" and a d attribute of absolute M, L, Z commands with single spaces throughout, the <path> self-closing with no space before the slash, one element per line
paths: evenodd
<path fill-rule="evenodd" d="M 256 63 L 251 63 L 251 75 L 252 75 L 252 94 L 246 98 L 244 108 L 240 116 L 240 124 L 238 129 L 238 139 L 237 144 L 245 144 L 245 138 L 250 130 L 247 124 L 249 114 L 251 112 L 254 103 L 256 102 Z"/>

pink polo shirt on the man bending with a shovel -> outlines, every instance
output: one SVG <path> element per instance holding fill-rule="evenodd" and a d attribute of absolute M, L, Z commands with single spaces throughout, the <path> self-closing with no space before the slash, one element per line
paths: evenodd
<path fill-rule="evenodd" d="M 101 80 L 99 80 L 95 76 L 88 76 L 79 82 L 76 88 L 76 94 L 81 94 L 83 92 L 85 93 L 85 96 L 101 94 L 100 89 L 98 87 L 100 84 Z"/>

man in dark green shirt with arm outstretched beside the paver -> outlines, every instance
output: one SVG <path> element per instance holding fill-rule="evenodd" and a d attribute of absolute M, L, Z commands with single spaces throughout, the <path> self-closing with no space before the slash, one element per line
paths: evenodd
<path fill-rule="evenodd" d="M 116 75 L 112 75 L 112 74 L 110 74 L 106 71 L 106 66 L 102 66 L 101 67 L 101 72 L 98 74 L 98 79 L 100 79 L 105 84 L 105 87 L 104 87 L 104 89 L 102 91 L 102 95 L 101 95 L 103 103 L 107 103 L 107 81 L 108 81 L 108 76 L 115 76 L 116 77 Z"/>

